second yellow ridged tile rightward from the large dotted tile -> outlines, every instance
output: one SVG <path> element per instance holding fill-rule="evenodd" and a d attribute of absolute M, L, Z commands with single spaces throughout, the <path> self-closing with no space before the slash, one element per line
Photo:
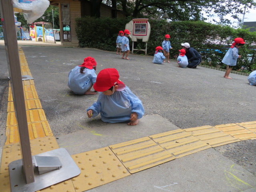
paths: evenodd
<path fill-rule="evenodd" d="M 155 134 L 149 137 L 176 158 L 211 148 L 210 145 L 181 129 Z"/>

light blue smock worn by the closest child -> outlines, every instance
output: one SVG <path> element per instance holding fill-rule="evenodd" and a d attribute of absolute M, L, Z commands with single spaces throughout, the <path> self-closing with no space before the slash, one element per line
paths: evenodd
<path fill-rule="evenodd" d="M 107 123 L 128 121 L 133 112 L 138 114 L 138 119 L 144 115 L 142 102 L 127 86 L 112 95 L 104 95 L 100 92 L 98 100 L 87 111 L 90 109 L 93 118 L 100 113 L 101 120 Z"/>

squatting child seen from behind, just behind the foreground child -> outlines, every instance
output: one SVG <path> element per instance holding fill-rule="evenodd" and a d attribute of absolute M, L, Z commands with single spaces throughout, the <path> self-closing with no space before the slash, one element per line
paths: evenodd
<path fill-rule="evenodd" d="M 82 65 L 76 66 L 68 74 L 68 87 L 75 94 L 95 95 L 96 92 L 91 91 L 93 84 L 96 82 L 97 75 L 96 61 L 92 57 L 84 58 Z"/>

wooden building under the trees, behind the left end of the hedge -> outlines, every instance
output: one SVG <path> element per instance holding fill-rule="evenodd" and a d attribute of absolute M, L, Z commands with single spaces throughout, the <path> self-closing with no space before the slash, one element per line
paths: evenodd
<path fill-rule="evenodd" d="M 87 0 L 49 0 L 51 5 L 59 7 L 60 18 L 60 41 L 64 46 L 78 46 L 78 39 L 76 36 L 75 25 L 76 18 L 82 16 L 90 16 L 92 5 Z M 100 6 L 100 17 L 114 17 L 122 18 L 126 13 L 116 10 L 105 4 Z"/>

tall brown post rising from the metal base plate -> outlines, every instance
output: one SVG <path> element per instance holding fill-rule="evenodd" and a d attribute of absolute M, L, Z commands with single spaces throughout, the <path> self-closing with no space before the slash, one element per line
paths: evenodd
<path fill-rule="evenodd" d="M 26 179 L 26 183 L 29 184 L 34 182 L 34 170 L 32 164 L 30 140 L 28 135 L 28 122 L 22 85 L 18 42 L 14 23 L 14 12 L 12 7 L 12 0 L 0 1 L 0 13 L 4 32 L 4 44 L 12 87 L 14 109 L 20 136 L 22 164 L 25 174 L 24 178 Z"/>

